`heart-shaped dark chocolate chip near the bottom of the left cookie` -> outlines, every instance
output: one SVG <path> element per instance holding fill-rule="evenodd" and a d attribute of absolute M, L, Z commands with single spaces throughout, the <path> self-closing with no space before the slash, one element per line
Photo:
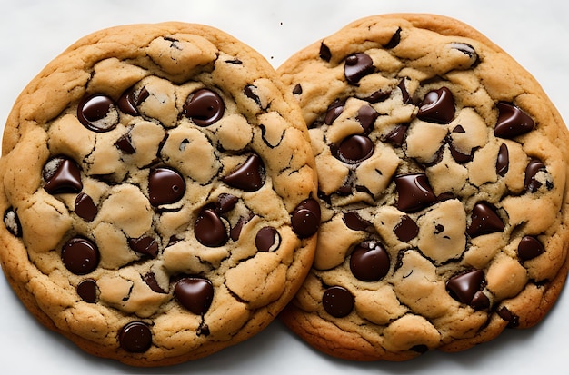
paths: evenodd
<path fill-rule="evenodd" d="M 176 300 L 195 315 L 203 315 L 214 300 L 211 281 L 199 277 L 185 277 L 175 283 Z"/>

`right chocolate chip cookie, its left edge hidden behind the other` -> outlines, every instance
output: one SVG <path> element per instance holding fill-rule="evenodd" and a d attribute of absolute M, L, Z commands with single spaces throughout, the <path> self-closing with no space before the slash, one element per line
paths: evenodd
<path fill-rule="evenodd" d="M 408 360 L 544 317 L 567 274 L 569 138 L 530 74 L 436 15 L 356 21 L 278 72 L 322 206 L 288 327 L 336 357 Z"/>

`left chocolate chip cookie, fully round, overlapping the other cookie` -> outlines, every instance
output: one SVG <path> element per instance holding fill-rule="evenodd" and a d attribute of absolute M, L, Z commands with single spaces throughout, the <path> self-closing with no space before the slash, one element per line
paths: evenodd
<path fill-rule="evenodd" d="M 86 36 L 17 99 L 0 159 L 0 258 L 25 306 L 136 366 L 262 330 L 320 225 L 302 113 L 250 47 L 203 25 Z"/>

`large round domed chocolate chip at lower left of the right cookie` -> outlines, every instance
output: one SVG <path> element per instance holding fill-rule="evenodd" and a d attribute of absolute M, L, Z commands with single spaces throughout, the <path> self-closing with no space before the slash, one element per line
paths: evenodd
<path fill-rule="evenodd" d="M 389 254 L 379 242 L 360 243 L 350 256 L 350 271 L 361 281 L 380 281 L 389 267 Z"/>

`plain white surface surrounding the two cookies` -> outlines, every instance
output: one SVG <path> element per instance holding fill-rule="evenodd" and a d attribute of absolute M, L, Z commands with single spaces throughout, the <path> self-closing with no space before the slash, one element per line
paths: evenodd
<path fill-rule="evenodd" d="M 450 15 L 487 35 L 529 70 L 569 122 L 569 2 L 384 0 L 1 0 L 0 124 L 40 69 L 83 35 L 113 25 L 185 21 L 213 25 L 251 45 L 275 67 L 306 44 L 366 15 Z M 275 321 L 253 339 L 204 360 L 137 369 L 91 357 L 45 330 L 0 276 L 3 374 L 567 374 L 569 288 L 537 327 L 505 331 L 461 353 L 426 353 L 404 363 L 356 363 L 315 352 Z"/>

